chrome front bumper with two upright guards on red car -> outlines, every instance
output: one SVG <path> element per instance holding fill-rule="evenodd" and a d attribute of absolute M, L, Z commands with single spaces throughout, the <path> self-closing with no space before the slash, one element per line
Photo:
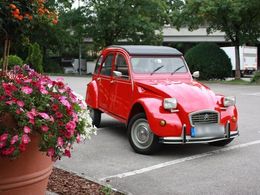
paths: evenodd
<path fill-rule="evenodd" d="M 180 137 L 160 137 L 159 142 L 163 144 L 192 144 L 192 143 L 210 143 L 225 139 L 232 139 L 239 136 L 239 131 L 230 131 L 230 123 L 225 126 L 225 133 L 222 137 L 200 137 L 195 138 L 186 134 L 186 125 L 182 127 L 182 135 Z"/>

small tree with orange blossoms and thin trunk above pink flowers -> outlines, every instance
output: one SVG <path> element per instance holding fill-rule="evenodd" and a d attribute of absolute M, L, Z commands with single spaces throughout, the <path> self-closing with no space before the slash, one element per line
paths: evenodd
<path fill-rule="evenodd" d="M 57 23 L 57 15 L 45 0 L 2 0 L 0 2 L 0 33 L 4 37 L 3 71 L 7 71 L 11 40 L 20 38 L 36 18 Z"/>

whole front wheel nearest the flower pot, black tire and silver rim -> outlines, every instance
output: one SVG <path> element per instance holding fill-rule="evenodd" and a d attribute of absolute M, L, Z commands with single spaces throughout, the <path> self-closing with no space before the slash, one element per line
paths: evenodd
<path fill-rule="evenodd" d="M 128 139 L 135 152 L 153 154 L 160 148 L 158 137 L 153 134 L 144 113 L 136 114 L 128 125 Z"/>

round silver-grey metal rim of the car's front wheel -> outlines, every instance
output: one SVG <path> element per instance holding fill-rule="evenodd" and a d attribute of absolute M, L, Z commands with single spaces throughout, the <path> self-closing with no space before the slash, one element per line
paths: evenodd
<path fill-rule="evenodd" d="M 134 122 L 131 128 L 131 138 L 139 149 L 147 149 L 152 145 L 154 134 L 146 119 L 138 119 Z"/>

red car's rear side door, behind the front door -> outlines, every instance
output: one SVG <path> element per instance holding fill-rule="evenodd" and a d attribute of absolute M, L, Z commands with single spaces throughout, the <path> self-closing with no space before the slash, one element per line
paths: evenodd
<path fill-rule="evenodd" d="M 98 105 L 101 110 L 110 112 L 111 104 L 110 102 L 110 88 L 112 81 L 112 66 L 114 63 L 114 53 L 109 53 L 106 55 L 103 63 L 101 64 L 101 70 L 99 77 L 97 78 L 98 82 Z"/>

